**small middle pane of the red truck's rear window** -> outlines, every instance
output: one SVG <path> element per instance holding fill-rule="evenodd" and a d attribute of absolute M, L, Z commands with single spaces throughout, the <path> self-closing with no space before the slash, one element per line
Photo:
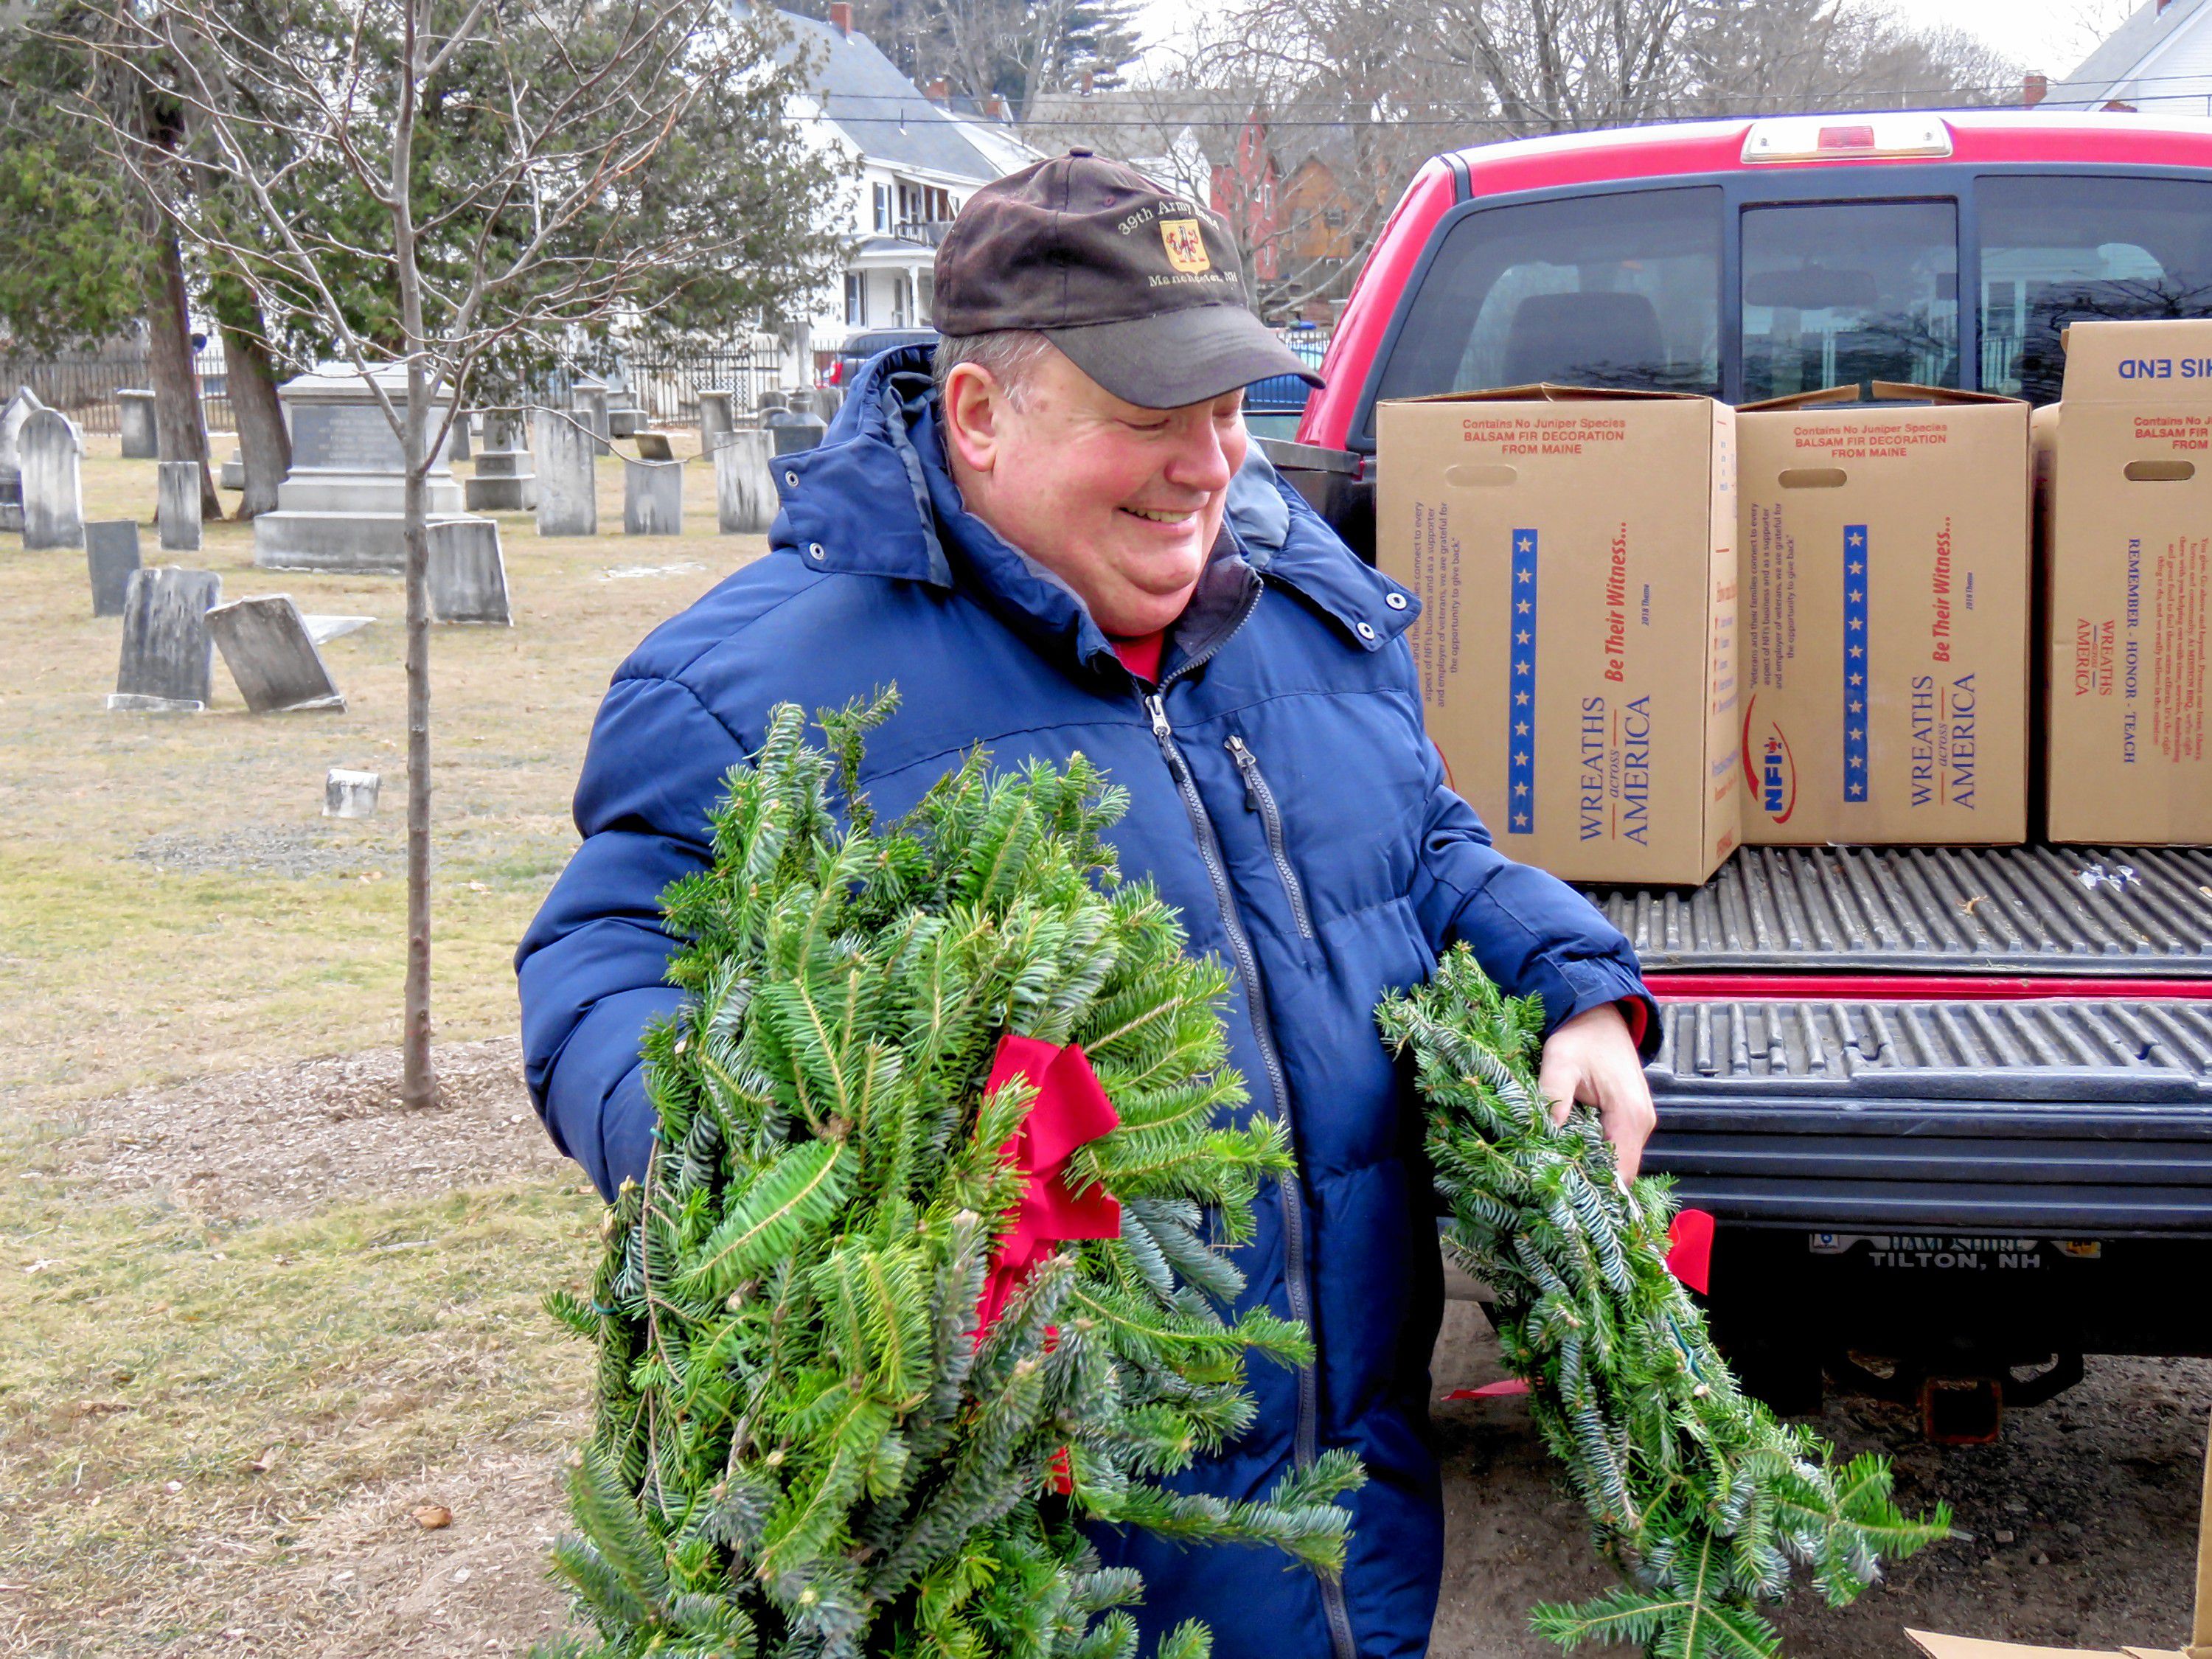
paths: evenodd
<path fill-rule="evenodd" d="M 1860 380 L 1958 385 L 1958 208 L 1747 208 L 1743 400 Z"/>

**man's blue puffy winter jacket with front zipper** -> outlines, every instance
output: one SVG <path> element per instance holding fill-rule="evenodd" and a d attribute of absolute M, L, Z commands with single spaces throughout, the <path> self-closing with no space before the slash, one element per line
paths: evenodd
<path fill-rule="evenodd" d="M 927 349 L 876 358 L 818 449 L 783 456 L 774 551 L 622 664 L 575 794 L 584 834 L 518 953 L 529 1084 L 602 1192 L 646 1166 L 639 1033 L 677 1006 L 659 894 L 708 858 L 708 807 L 770 706 L 841 706 L 896 681 L 867 792 L 905 812 L 975 743 L 1002 765 L 1082 750 L 1128 790 L 1121 869 L 1237 971 L 1230 1048 L 1298 1175 L 1259 1206 L 1250 1301 L 1307 1321 L 1307 1371 L 1254 1365 L 1252 1431 L 1192 1484 L 1267 1491 L 1352 1447 L 1340 1584 L 1272 1551 L 1102 1533 L 1146 1582 L 1148 1635 L 1186 1617 L 1221 1659 L 1396 1659 L 1429 1641 L 1442 1564 L 1427 1447 L 1442 1310 L 1420 1115 L 1371 1011 L 1467 940 L 1553 1022 L 1644 995 L 1575 891 L 1491 847 L 1444 783 L 1400 641 L 1418 604 L 1360 564 L 1265 462 L 1168 639 L 1130 675 L 1084 606 L 969 515 L 938 445 Z M 1655 1029 L 1648 1022 L 1646 1029 Z"/>

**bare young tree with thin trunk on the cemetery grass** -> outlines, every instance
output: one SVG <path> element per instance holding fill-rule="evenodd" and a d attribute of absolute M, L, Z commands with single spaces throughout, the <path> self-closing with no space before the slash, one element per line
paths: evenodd
<path fill-rule="evenodd" d="M 431 467 L 484 376 L 699 288 L 759 310 L 821 281 L 830 164 L 781 115 L 805 64 L 728 0 L 111 0 L 100 51 L 190 135 L 179 168 L 108 122 L 122 164 L 272 334 L 334 345 L 400 447 L 403 1099 L 429 1106 Z"/>

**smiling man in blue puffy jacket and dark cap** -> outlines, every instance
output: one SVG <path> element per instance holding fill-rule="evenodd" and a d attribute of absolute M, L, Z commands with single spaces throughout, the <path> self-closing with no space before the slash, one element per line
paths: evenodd
<path fill-rule="evenodd" d="M 872 363 L 827 440 L 776 460 L 770 557 L 615 675 L 584 845 L 518 956 L 531 1091 L 602 1192 L 644 1172 L 637 1042 L 679 1002 L 657 896 L 706 863 L 708 810 L 772 703 L 896 681 L 865 770 L 883 814 L 978 743 L 1000 765 L 1082 750 L 1130 794 L 1124 874 L 1234 969 L 1232 1057 L 1298 1150 L 1241 1263 L 1316 1360 L 1256 1365 L 1252 1429 L 1192 1480 L 1256 1495 L 1323 1447 L 1369 1473 L 1340 1584 L 1272 1551 L 1099 1548 L 1144 1573 L 1148 1632 L 1203 1617 L 1221 1659 L 1420 1655 L 1440 1270 L 1420 1110 L 1374 1004 L 1467 940 L 1544 998 L 1546 1093 L 1595 1104 L 1635 1168 L 1652 1108 L 1630 1033 L 1657 1024 L 1635 956 L 1491 847 L 1422 734 L 1416 602 L 1248 460 L 1241 387 L 1314 376 L 1243 307 L 1212 217 L 1088 150 L 1042 161 L 969 201 L 936 319 L 933 376 L 929 349 Z"/>

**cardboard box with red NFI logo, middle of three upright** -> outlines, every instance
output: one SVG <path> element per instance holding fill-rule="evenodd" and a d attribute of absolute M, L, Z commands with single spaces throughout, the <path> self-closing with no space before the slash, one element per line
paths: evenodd
<path fill-rule="evenodd" d="M 1743 838 L 2028 834 L 2028 405 L 1876 380 L 1736 409 Z"/>

